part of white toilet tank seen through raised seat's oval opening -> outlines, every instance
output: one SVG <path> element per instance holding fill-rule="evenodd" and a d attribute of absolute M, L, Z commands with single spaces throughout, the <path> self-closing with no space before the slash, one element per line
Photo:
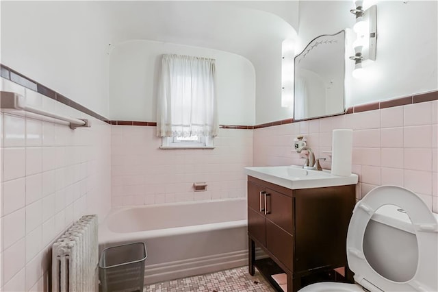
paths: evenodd
<path fill-rule="evenodd" d="M 417 271 L 418 243 L 409 215 L 391 204 L 378 208 L 365 229 L 363 254 L 384 278 L 411 280 Z"/>

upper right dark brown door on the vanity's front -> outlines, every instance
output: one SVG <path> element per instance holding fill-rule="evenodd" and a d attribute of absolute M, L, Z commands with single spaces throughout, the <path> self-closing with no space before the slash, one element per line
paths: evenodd
<path fill-rule="evenodd" d="M 283 228 L 287 233 L 294 234 L 294 221 L 292 214 L 292 197 L 283 195 L 270 188 L 266 189 L 266 219 Z"/>

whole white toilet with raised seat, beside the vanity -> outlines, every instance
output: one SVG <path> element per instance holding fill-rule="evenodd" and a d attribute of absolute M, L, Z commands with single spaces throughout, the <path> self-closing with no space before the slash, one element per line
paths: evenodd
<path fill-rule="evenodd" d="M 438 215 L 406 188 L 378 186 L 353 210 L 347 260 L 356 284 L 320 282 L 299 292 L 438 291 Z"/>

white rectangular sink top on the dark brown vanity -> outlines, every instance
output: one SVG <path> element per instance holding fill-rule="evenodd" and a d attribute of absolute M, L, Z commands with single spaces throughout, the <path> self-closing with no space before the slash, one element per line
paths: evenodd
<path fill-rule="evenodd" d="M 356 174 L 337 176 L 330 171 L 302 169 L 296 165 L 287 167 L 245 167 L 245 173 L 272 184 L 278 184 L 292 190 L 298 188 L 323 188 L 326 186 L 345 186 L 357 184 Z"/>

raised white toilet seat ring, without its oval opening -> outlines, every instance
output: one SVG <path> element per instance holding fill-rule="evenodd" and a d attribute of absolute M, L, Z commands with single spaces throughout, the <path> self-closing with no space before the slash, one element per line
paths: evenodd
<path fill-rule="evenodd" d="M 417 236 L 417 271 L 407 282 L 394 282 L 374 271 L 363 254 L 363 237 L 374 212 L 393 204 L 407 212 Z M 355 281 L 369 291 L 438 291 L 438 221 L 415 193 L 400 186 L 378 186 L 359 201 L 348 226 L 347 259 Z"/>

